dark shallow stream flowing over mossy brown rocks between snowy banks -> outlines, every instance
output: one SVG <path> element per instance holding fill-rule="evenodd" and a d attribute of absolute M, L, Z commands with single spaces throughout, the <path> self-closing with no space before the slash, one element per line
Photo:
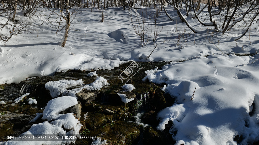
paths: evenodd
<path fill-rule="evenodd" d="M 142 81 L 146 76 L 146 70 L 156 67 L 161 68 L 166 62 L 136 62 L 138 68 L 135 69 L 131 79 L 125 79 L 123 82 L 118 78 L 132 62 L 121 64 L 112 70 L 97 70 L 98 76 L 104 77 L 110 85 L 101 90 L 89 91 L 83 90 L 77 93 L 78 101 L 81 102 L 80 123 L 83 125 L 80 130 L 81 136 L 98 136 L 102 140 L 107 140 L 108 144 L 174 144 L 172 134 L 169 129 L 172 124 L 167 124 L 163 131 L 156 130 L 158 121 L 157 113 L 168 106 L 174 104 L 174 98 L 161 91 L 163 85 L 156 85 L 148 81 Z M 97 77 L 87 77 L 91 71 L 68 70 L 65 73 L 56 72 L 53 76 L 27 78 L 18 84 L 0 85 L 0 101 L 6 104 L 0 104 L 0 141 L 7 141 L 7 136 L 18 136 L 31 128 L 33 124 L 42 123 L 38 119 L 36 122 L 29 123 L 36 113 L 42 113 L 47 102 L 53 99 L 49 91 L 45 89 L 45 83 L 49 81 L 58 81 L 60 79 L 82 79 L 84 84 L 95 81 Z M 131 72 L 132 73 L 132 72 Z M 136 89 L 128 92 L 128 95 L 136 97 L 134 101 L 123 103 L 118 92 L 122 91 L 121 86 L 127 82 L 134 85 Z M 69 89 L 77 88 L 78 86 Z M 26 94 L 22 101 L 15 103 L 14 99 Z M 88 98 L 89 93 L 92 95 Z M 37 104 L 29 105 L 28 98 L 37 100 Z M 106 109 L 113 113 L 105 111 Z M 84 119 L 84 114 L 88 113 L 89 118 Z M 75 144 L 91 144 L 92 140 L 78 139 Z"/>

